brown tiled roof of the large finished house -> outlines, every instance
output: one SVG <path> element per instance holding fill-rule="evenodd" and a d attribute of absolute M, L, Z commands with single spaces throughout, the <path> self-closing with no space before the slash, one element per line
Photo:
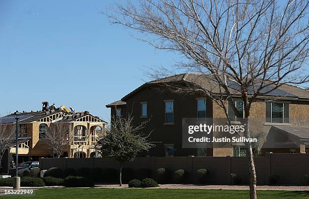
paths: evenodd
<path fill-rule="evenodd" d="M 194 74 L 194 73 L 182 73 L 182 74 L 172 75 L 172 76 L 169 76 L 169 77 L 160 78 L 160 79 L 156 79 L 156 80 L 146 82 L 143 85 L 136 88 L 135 90 L 133 90 L 132 92 L 130 92 L 129 94 L 125 95 L 123 98 L 121 98 L 121 101 L 116 101 L 114 103 L 111 103 L 111 104 L 107 105 L 107 107 L 118 105 L 117 103 L 119 103 L 119 102 L 123 103 L 124 101 L 127 100 L 127 98 L 129 98 L 130 96 L 132 96 L 133 94 L 135 94 L 139 90 L 143 89 L 144 87 L 154 85 L 154 84 L 163 84 L 163 83 L 166 83 L 166 82 L 193 83 L 193 84 L 198 85 L 201 88 L 203 88 L 205 90 L 209 90 L 209 91 L 211 91 L 215 94 L 220 93 L 219 84 L 213 78 L 211 78 L 210 75 Z M 241 92 L 240 92 L 239 86 L 231 80 L 228 83 L 229 83 L 229 88 L 230 88 L 231 94 L 235 95 L 235 96 L 240 96 Z M 296 86 L 292 86 L 292 85 L 282 85 L 281 87 L 276 88 L 273 91 L 263 95 L 263 92 L 266 93 L 271 89 L 273 89 L 272 85 L 263 88 L 261 90 L 260 96 L 286 97 L 286 98 L 291 98 L 291 99 L 295 99 L 295 100 L 298 100 L 298 99 L 309 100 L 309 91 L 302 89 L 302 88 L 299 88 L 299 87 L 296 87 Z M 252 90 L 249 89 L 248 92 L 250 94 L 250 93 L 252 93 Z"/>

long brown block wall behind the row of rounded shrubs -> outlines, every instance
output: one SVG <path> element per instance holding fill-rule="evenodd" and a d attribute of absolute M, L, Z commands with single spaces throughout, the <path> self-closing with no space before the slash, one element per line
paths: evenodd
<path fill-rule="evenodd" d="M 259 185 L 269 183 L 271 175 L 280 176 L 279 183 L 287 185 L 306 185 L 304 175 L 309 173 L 309 154 L 272 154 L 266 157 L 254 158 L 257 181 Z M 114 168 L 119 169 L 119 162 L 109 158 L 41 158 L 41 170 L 58 167 L 67 168 Z M 210 184 L 230 184 L 231 173 L 238 174 L 242 182 L 248 182 L 248 167 L 246 157 L 149 157 L 136 158 L 133 162 L 124 163 L 124 167 L 133 170 L 149 169 L 153 173 L 158 168 L 164 167 L 171 171 L 184 169 L 191 179 L 195 181 L 198 169 L 210 171 Z"/>

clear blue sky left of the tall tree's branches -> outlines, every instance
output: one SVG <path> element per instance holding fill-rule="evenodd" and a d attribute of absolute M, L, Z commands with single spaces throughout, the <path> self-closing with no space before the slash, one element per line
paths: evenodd
<path fill-rule="evenodd" d="M 175 64 L 99 13 L 113 2 L 2 0 L 0 115 L 48 101 L 108 121 L 105 105 L 148 80 L 145 67 Z"/>

